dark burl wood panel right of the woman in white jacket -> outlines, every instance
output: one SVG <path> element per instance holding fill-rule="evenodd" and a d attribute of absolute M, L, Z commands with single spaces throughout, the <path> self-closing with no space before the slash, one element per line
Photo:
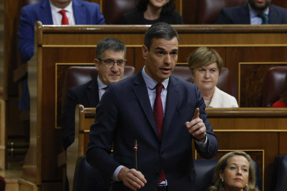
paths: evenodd
<path fill-rule="evenodd" d="M 266 72 L 276 63 L 240 63 L 240 107 L 262 107 Z"/>

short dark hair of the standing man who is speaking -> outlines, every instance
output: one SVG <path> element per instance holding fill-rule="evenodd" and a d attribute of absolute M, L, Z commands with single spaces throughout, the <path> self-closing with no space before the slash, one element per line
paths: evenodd
<path fill-rule="evenodd" d="M 172 26 L 164 22 L 155 23 L 146 31 L 144 45 L 148 48 L 148 51 L 150 51 L 150 45 L 152 44 L 153 38 L 171 40 L 174 37 L 177 37 L 177 42 L 179 43 L 179 35 Z"/>

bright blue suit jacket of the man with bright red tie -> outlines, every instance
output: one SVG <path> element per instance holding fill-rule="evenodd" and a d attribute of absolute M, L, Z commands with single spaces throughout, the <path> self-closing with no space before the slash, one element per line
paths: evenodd
<path fill-rule="evenodd" d="M 87 1 L 73 0 L 75 24 L 105 24 L 100 5 Z M 49 0 L 27 5 L 21 9 L 18 29 L 18 47 L 23 62 L 34 54 L 34 25 L 37 20 L 42 24 L 53 24 Z"/>

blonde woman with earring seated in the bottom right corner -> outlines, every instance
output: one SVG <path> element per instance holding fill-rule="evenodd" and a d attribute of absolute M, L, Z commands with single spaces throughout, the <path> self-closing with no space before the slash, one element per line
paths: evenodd
<path fill-rule="evenodd" d="M 213 175 L 214 186 L 207 191 L 259 191 L 255 183 L 251 157 L 243 151 L 233 151 L 218 161 Z"/>

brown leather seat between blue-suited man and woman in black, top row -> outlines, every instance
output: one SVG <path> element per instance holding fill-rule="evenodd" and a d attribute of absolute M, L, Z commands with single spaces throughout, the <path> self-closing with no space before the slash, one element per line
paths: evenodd
<path fill-rule="evenodd" d="M 123 13 L 135 8 L 137 0 L 109 0 L 104 3 L 104 18 L 106 24 L 118 24 Z"/>

